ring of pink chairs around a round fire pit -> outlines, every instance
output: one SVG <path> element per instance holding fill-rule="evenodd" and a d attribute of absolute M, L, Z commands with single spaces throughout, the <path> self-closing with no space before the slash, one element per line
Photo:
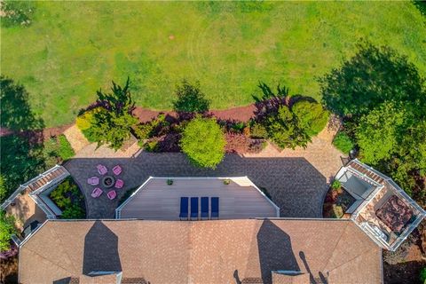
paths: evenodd
<path fill-rule="evenodd" d="M 122 179 L 120 178 L 115 178 L 120 176 L 120 174 L 122 173 L 122 167 L 120 167 L 119 165 L 114 166 L 113 168 L 113 173 L 114 176 L 108 176 L 106 175 L 106 173 L 108 172 L 108 169 L 106 169 L 106 166 L 99 164 L 98 166 L 96 166 L 96 169 L 99 172 L 99 175 L 101 175 L 102 177 L 99 179 L 99 177 L 89 177 L 87 179 L 87 183 L 89 185 L 99 185 L 99 182 L 101 183 L 101 185 L 105 188 L 110 188 L 113 187 L 115 189 L 120 189 L 122 188 L 122 186 L 124 185 L 124 181 L 122 181 Z M 100 187 L 95 187 L 93 189 L 93 191 L 91 192 L 91 197 L 93 198 L 98 198 L 100 195 L 102 195 L 102 193 L 104 193 L 104 191 L 100 188 Z M 108 193 L 106 193 L 106 196 L 108 197 L 109 200 L 114 200 L 115 197 L 117 197 L 117 193 L 115 192 L 115 190 L 110 190 Z"/>

